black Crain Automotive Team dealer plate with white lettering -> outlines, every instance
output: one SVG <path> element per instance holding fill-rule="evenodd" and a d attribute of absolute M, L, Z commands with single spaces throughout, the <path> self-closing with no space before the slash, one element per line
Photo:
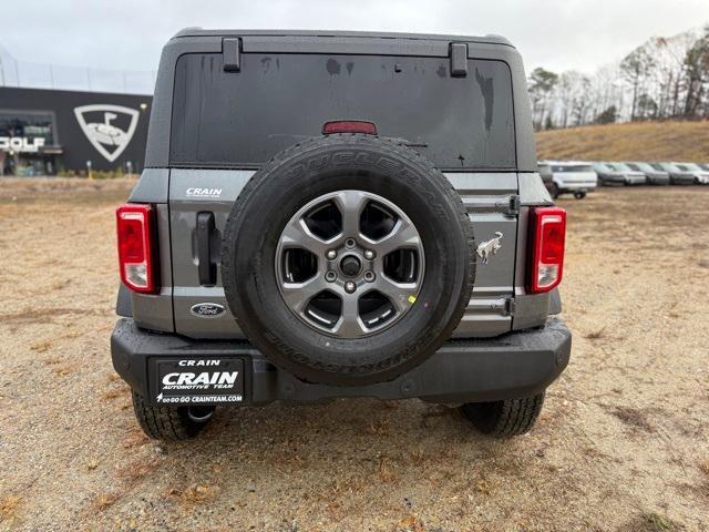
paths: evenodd
<path fill-rule="evenodd" d="M 240 358 L 157 359 L 155 402 L 217 405 L 244 400 L 244 360 Z"/>

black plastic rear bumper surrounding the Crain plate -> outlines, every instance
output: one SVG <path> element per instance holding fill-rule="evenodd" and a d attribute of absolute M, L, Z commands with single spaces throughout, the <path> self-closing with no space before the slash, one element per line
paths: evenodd
<path fill-rule="evenodd" d="M 245 361 L 246 405 L 271 401 L 316 402 L 342 397 L 420 398 L 431 402 L 472 402 L 526 397 L 549 386 L 568 364 L 572 335 L 558 318 L 545 327 L 497 338 L 454 340 L 401 377 L 377 385 L 336 387 L 304 382 L 273 366 L 247 342 L 195 341 L 176 335 L 138 329 L 120 319 L 111 336 L 111 357 L 117 374 L 154 402 L 156 380 L 148 368 L 160 358 L 242 357 Z"/>

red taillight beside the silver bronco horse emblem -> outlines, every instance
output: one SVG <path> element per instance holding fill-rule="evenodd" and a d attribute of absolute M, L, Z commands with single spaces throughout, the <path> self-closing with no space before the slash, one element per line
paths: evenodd
<path fill-rule="evenodd" d="M 532 267 L 527 288 L 538 294 L 551 290 L 562 282 L 566 211 L 558 207 L 532 208 L 530 223 Z"/>

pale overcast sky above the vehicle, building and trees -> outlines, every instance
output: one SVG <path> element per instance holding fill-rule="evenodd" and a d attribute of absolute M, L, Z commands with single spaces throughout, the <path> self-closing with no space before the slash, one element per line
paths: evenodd
<path fill-rule="evenodd" d="M 199 25 L 496 33 L 527 70 L 590 73 L 651 35 L 709 22 L 709 0 L 8 0 L 0 17 L 17 60 L 63 65 L 152 71 L 171 35 Z"/>

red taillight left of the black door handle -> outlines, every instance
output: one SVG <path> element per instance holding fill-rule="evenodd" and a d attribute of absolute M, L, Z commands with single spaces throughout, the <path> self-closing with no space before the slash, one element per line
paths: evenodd
<path fill-rule="evenodd" d="M 116 212 L 121 280 L 142 294 L 154 294 L 157 284 L 153 260 L 153 208 L 121 205 Z"/>

